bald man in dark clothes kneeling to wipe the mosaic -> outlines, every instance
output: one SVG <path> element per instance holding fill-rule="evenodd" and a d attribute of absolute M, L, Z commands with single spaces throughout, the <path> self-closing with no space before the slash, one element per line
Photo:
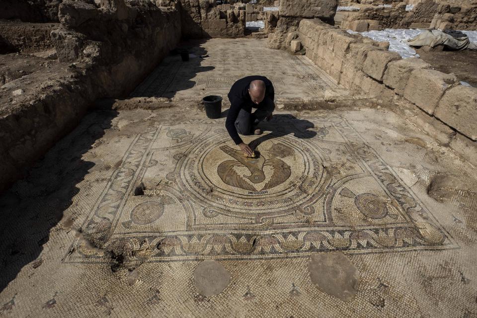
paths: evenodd
<path fill-rule="evenodd" d="M 272 82 L 264 76 L 247 76 L 236 81 L 228 94 L 230 109 L 225 127 L 236 145 L 248 156 L 251 148 L 244 144 L 240 135 L 259 135 L 256 126 L 262 120 L 270 120 L 275 109 L 275 92 Z M 252 113 L 252 108 L 256 110 Z"/>

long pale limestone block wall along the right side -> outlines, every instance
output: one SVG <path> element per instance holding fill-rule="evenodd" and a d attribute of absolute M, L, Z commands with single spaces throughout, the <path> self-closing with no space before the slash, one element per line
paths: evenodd
<path fill-rule="evenodd" d="M 298 35 L 306 56 L 339 84 L 385 103 L 412 103 L 451 127 L 457 134 L 450 146 L 477 164 L 477 88 L 318 19 L 301 20 Z"/>

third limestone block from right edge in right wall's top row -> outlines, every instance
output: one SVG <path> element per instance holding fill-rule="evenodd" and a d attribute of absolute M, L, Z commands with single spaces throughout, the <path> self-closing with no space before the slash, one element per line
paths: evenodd
<path fill-rule="evenodd" d="M 430 67 L 430 64 L 421 59 L 410 58 L 392 61 L 388 64 L 383 81 L 389 87 L 394 88 L 397 94 L 403 95 L 407 80 L 411 76 L 412 71 L 430 69 Z"/>

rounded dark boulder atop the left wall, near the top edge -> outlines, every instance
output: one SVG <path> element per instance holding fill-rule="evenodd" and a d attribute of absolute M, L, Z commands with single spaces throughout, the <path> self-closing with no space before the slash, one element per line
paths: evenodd
<path fill-rule="evenodd" d="M 58 8 L 60 22 L 68 27 L 77 27 L 97 14 L 94 5 L 81 1 L 65 1 Z"/>

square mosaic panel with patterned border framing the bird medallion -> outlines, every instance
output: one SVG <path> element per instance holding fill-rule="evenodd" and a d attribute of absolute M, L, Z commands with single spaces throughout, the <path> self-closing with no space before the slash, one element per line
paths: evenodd
<path fill-rule="evenodd" d="M 346 120 L 277 115 L 270 126 L 278 130 L 244 139 L 256 159 L 243 157 L 223 120 L 151 127 L 82 228 L 104 249 L 155 248 L 149 261 L 457 247 Z M 67 261 L 110 262 L 76 247 Z"/>

